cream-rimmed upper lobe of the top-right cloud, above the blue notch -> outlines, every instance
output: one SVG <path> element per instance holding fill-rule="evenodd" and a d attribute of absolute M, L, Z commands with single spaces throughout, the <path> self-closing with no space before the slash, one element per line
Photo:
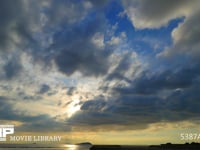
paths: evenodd
<path fill-rule="evenodd" d="M 122 1 L 125 12 L 135 28 L 159 28 L 165 26 L 170 20 L 182 16 L 189 16 L 198 10 L 198 1 L 187 0 L 163 1 L 141 0 Z"/>

